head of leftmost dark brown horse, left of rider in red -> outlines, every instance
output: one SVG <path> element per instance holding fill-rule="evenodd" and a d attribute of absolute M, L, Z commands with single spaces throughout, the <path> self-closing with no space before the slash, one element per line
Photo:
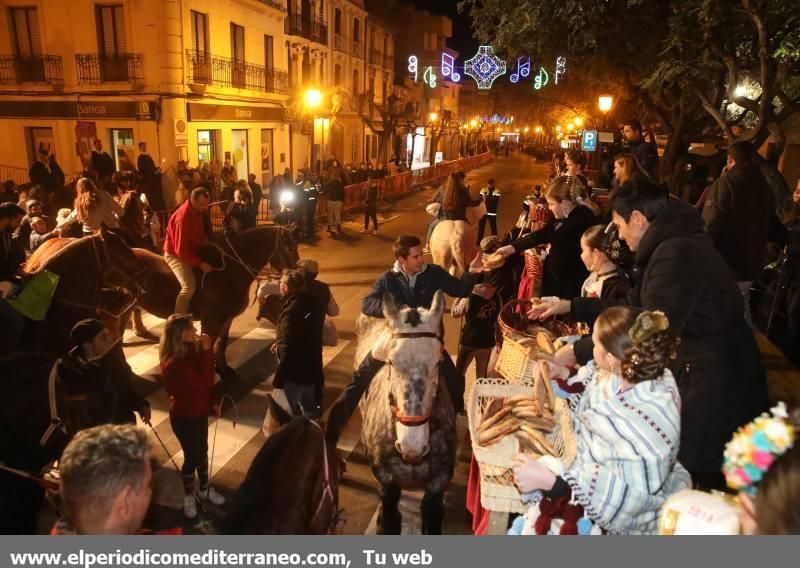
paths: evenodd
<path fill-rule="evenodd" d="M 139 263 L 122 235 L 103 225 L 91 238 L 96 239 L 94 254 L 103 285 L 124 288 L 138 295 L 149 290 L 150 273 Z"/>

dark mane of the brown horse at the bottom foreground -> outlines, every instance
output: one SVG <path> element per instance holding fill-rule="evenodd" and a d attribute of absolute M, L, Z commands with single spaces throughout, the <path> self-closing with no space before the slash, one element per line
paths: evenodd
<path fill-rule="evenodd" d="M 289 473 L 281 469 L 281 459 L 287 454 L 287 451 L 304 447 L 304 444 L 298 444 L 298 439 L 305 436 L 309 428 L 316 429 L 316 426 L 311 423 L 311 419 L 298 416 L 282 426 L 264 442 L 233 499 L 222 534 L 248 534 L 247 521 L 253 514 L 253 510 L 261 504 L 263 497 L 270 492 L 275 483 L 275 477 L 285 476 Z M 305 449 L 307 450 L 307 448 Z M 290 511 L 262 511 L 262 513 L 278 518 L 288 515 Z"/>

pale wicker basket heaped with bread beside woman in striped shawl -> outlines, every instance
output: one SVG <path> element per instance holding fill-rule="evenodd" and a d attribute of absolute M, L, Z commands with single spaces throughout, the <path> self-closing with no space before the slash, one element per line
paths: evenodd
<path fill-rule="evenodd" d="M 469 395 L 467 415 L 485 509 L 525 512 L 527 505 L 514 484 L 513 467 L 520 453 L 553 456 L 564 467 L 575 459 L 569 406 L 556 397 L 545 363 L 536 366 L 531 381 L 478 379 Z"/>

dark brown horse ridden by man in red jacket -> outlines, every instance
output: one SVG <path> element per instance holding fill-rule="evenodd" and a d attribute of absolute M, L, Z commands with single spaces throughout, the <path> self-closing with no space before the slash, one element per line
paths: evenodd
<path fill-rule="evenodd" d="M 213 241 L 211 253 L 220 260 L 211 262 L 219 268 L 197 279 L 197 291 L 192 298 L 192 313 L 201 321 L 202 332 L 216 340 L 217 371 L 223 378 L 233 378 L 236 372 L 228 365 L 225 349 L 233 319 L 247 309 L 250 285 L 264 266 L 273 270 L 294 268 L 299 257 L 288 230 L 282 227 L 255 227 Z M 167 318 L 175 311 L 175 299 L 180 285 L 163 257 L 143 249 L 134 249 L 142 268 L 152 279 L 151 289 L 139 297 L 138 306 L 145 311 Z M 146 336 L 141 315 L 133 312 L 136 333 Z"/>

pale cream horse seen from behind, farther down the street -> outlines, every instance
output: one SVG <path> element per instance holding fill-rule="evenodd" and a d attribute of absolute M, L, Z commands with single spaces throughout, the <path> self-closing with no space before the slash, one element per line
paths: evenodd
<path fill-rule="evenodd" d="M 467 208 L 466 221 L 439 221 L 431 234 L 433 263 L 460 278 L 478 253 L 477 226 L 484 215 L 486 205 L 481 203 Z"/>

